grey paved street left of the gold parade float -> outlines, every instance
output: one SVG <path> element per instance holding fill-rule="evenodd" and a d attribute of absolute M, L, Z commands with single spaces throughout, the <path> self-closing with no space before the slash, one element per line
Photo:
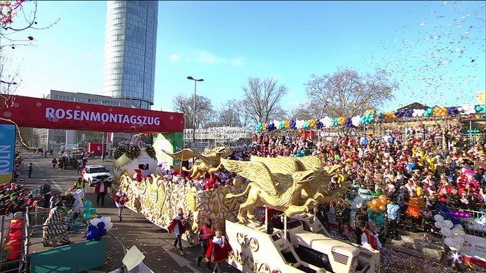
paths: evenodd
<path fill-rule="evenodd" d="M 26 167 L 32 162 L 34 170 L 32 179 L 26 178 L 27 172 L 24 168 L 21 183 L 28 188 L 35 185 L 50 184 L 52 192 L 65 192 L 76 181 L 79 174 L 77 170 L 68 168 L 68 170 L 53 169 L 52 157 L 47 158 L 29 154 L 24 156 L 23 165 Z M 111 161 L 101 161 L 101 159 L 89 159 L 88 165 L 101 164 L 108 170 L 112 170 Z M 150 223 L 142 215 L 124 210 L 123 221 L 118 221 L 117 208 L 115 201 L 111 196 L 106 196 L 104 207 L 96 205 L 95 188 L 86 186 L 86 198 L 93 202 L 93 208 L 97 208 L 97 214 L 110 216 L 113 222 L 113 228 L 107 235 L 107 261 L 104 267 L 94 269 L 93 272 L 109 272 L 122 265 L 122 259 L 125 250 L 132 245 L 146 256 L 144 263 L 155 272 L 209 272 L 204 269 L 204 263 L 201 268 L 197 268 L 195 259 L 197 258 L 200 247 L 199 245 L 188 245 L 184 242 L 184 257 L 173 250 L 174 235 L 169 234 L 162 228 Z M 101 205 L 101 204 L 100 204 Z M 237 272 L 228 270 L 228 272 Z"/>

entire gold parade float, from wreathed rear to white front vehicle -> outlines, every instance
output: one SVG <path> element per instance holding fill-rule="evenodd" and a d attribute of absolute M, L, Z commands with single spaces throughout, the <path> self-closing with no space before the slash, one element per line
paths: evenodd
<path fill-rule="evenodd" d="M 228 152 L 217 147 L 203 154 L 191 149 L 166 154 L 179 160 L 197 158 L 188 170 L 194 177 L 213 175 L 222 168 L 234 172 L 233 185 L 197 190 L 155 174 L 134 180 L 124 166 L 133 168 L 146 160 L 143 152 L 137 152 L 140 161 L 137 156 L 130 160 L 120 156 L 123 160 L 114 162 L 121 175 L 113 190 L 122 188 L 130 196 L 126 206 L 162 228 L 183 208 L 188 219 L 184 239 L 190 243 L 197 243 L 198 228 L 212 219 L 215 229 L 226 231 L 233 247 L 229 263 L 242 272 L 380 271 L 380 252 L 331 238 L 315 216 L 317 205 L 342 200 L 341 194 L 349 191 L 350 185 L 344 183 L 329 190 L 331 176 L 340 165 L 322 168 L 317 156 L 253 156 L 251 161 L 234 161 L 224 159 Z M 278 216 L 283 228 L 270 225 L 268 216 L 261 223 L 253 213 L 262 206 L 282 212 Z"/>

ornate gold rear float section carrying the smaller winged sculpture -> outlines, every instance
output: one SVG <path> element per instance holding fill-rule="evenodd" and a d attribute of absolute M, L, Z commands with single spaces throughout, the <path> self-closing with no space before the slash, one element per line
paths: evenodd
<path fill-rule="evenodd" d="M 237 221 L 237 210 L 242 203 L 242 198 L 226 200 L 226 194 L 240 194 L 244 190 L 244 183 L 241 178 L 233 179 L 233 185 L 225 185 L 211 190 L 198 190 L 193 185 L 173 183 L 165 177 L 155 174 L 155 169 L 150 166 L 157 166 L 155 150 L 152 147 L 137 148 L 130 146 L 125 148 L 124 154 L 115 154 L 113 170 L 117 176 L 117 183 L 112 187 L 112 194 L 122 188 L 130 196 L 126 207 L 139 212 L 149 221 L 166 229 L 171 223 L 173 216 L 177 215 L 179 208 L 184 209 L 188 219 L 188 232 L 185 238 L 190 243 L 197 243 L 198 228 L 207 219 L 213 220 L 215 228 L 224 229 L 225 220 Z M 197 157 L 191 173 L 193 175 L 213 172 L 220 165 L 215 157 L 221 152 L 228 152 L 227 148 L 215 148 L 206 150 L 206 153 L 199 154 L 191 149 L 184 149 L 175 154 L 189 159 L 189 155 Z M 116 151 L 115 151 L 116 153 Z M 206 156 L 205 156 L 206 155 Z M 226 154 L 227 155 L 227 154 Z M 135 169 L 139 165 L 146 164 L 152 173 L 142 181 L 133 179 Z"/>

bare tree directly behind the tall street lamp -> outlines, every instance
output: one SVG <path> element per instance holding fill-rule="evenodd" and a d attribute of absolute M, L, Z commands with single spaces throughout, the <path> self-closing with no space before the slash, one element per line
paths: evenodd
<path fill-rule="evenodd" d="M 193 116 L 194 116 L 194 95 L 191 97 L 184 96 L 182 94 L 177 95 L 173 101 L 173 110 L 175 112 L 184 113 L 185 128 L 193 128 Z M 196 108 L 195 108 L 195 127 L 203 128 L 207 123 L 211 122 L 211 117 L 214 115 L 213 105 L 211 100 L 196 95 Z"/>

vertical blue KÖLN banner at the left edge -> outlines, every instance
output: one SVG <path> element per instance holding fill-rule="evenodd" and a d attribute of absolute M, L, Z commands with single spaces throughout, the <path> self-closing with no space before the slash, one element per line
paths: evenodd
<path fill-rule="evenodd" d="M 0 124 L 0 183 L 11 183 L 14 174 L 15 125 Z"/>

